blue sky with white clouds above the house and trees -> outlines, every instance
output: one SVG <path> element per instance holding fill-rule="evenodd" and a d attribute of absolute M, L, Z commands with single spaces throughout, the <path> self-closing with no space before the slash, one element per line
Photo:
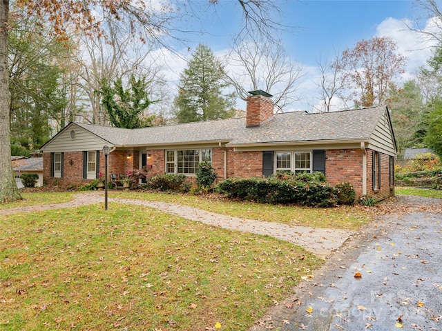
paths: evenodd
<path fill-rule="evenodd" d="M 316 102 L 318 79 L 316 61 L 321 55 L 329 59 L 336 51 L 353 48 L 358 41 L 372 37 L 390 37 L 398 44 L 398 51 L 408 58 L 407 72 L 400 81 L 411 79 L 419 66 L 430 57 L 433 44 L 423 46 L 421 35 L 408 30 L 410 23 L 419 14 L 413 1 L 276 1 L 282 12 L 282 24 L 292 26 L 281 36 L 282 44 L 293 61 L 301 63 L 305 70 L 302 85 L 302 101 L 291 110 L 311 110 Z M 196 3 L 196 5 L 195 5 Z M 199 6 L 198 6 L 199 5 Z M 218 0 L 215 5 L 209 0 L 193 1 L 195 17 L 182 28 L 204 30 L 204 34 L 187 35 L 192 50 L 198 43 L 206 43 L 217 55 L 226 54 L 231 47 L 232 36 L 238 31 L 241 11 L 237 0 Z M 420 21 L 425 27 L 425 20 Z M 185 57 L 191 52 L 184 50 Z M 184 68 L 180 60 L 169 61 L 170 68 L 177 73 Z M 175 80 L 176 81 L 176 80 Z M 400 83 L 400 82 L 399 82 Z M 271 92 L 271 91 L 270 91 Z M 242 108 L 242 105 L 238 105 Z"/>

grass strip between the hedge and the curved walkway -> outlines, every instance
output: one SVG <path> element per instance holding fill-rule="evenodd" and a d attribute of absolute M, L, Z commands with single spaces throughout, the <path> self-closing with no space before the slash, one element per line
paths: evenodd
<path fill-rule="evenodd" d="M 111 192 L 109 197 L 144 199 L 190 205 L 191 207 L 226 214 L 233 217 L 246 217 L 260 221 L 305 225 L 314 228 L 339 228 L 357 230 L 372 220 L 366 209 L 340 206 L 338 208 L 309 208 L 293 205 L 267 205 L 251 202 L 235 202 L 224 199 L 210 199 L 203 196 L 170 193 Z"/>

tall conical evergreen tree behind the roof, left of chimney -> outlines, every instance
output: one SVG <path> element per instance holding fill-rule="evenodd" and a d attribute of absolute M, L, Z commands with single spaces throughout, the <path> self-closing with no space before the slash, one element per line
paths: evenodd
<path fill-rule="evenodd" d="M 175 97 L 179 123 L 225 119 L 234 114 L 234 94 L 223 95 L 228 84 L 222 65 L 212 50 L 200 44 L 189 65 L 180 74 L 180 92 Z"/>

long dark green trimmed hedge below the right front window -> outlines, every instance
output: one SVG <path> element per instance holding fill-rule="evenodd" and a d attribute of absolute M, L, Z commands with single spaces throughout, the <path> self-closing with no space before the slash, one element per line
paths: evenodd
<path fill-rule="evenodd" d="M 256 201 L 258 203 L 295 203 L 311 207 L 331 207 L 338 202 L 343 203 L 343 201 L 349 204 L 351 200 L 352 194 L 348 192 L 337 194 L 337 192 L 343 192 L 343 186 L 351 192 L 351 185 L 343 183 L 340 184 L 341 188 L 334 188 L 332 185 L 325 183 L 325 177 L 320 173 L 299 174 L 297 177 L 289 176 L 285 179 L 280 179 L 280 177 L 280 174 L 277 174 L 266 179 L 230 178 L 218 183 L 215 190 L 226 194 L 231 199 Z M 345 199 L 343 198 L 344 195 Z"/>

